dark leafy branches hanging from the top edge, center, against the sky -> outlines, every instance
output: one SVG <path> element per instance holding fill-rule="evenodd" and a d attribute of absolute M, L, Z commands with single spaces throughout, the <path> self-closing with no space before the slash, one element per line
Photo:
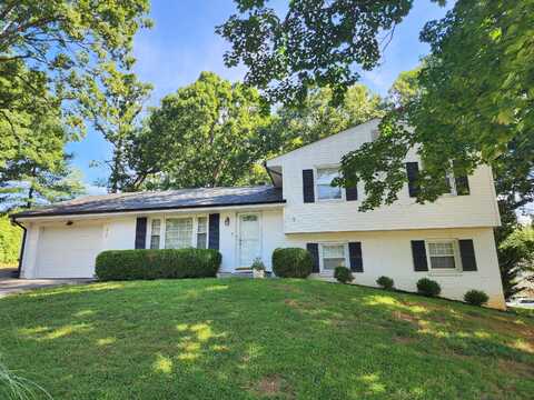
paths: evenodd
<path fill-rule="evenodd" d="M 231 50 L 225 63 L 243 63 L 246 83 L 264 89 L 273 103 L 296 103 L 316 87 L 330 87 L 339 102 L 356 83 L 356 67 L 372 70 L 380 59 L 379 34 L 393 28 L 412 1 L 289 1 L 279 16 L 268 1 L 235 0 L 233 14 L 217 32 Z M 389 39 L 390 40 L 390 39 Z"/>

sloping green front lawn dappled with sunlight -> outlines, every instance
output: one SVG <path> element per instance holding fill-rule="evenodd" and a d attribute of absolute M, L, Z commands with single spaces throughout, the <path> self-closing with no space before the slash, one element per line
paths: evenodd
<path fill-rule="evenodd" d="M 532 399 L 534 319 L 312 280 L 0 300 L 0 353 L 56 399 Z M 1 397 L 1 396 L 0 396 Z"/>

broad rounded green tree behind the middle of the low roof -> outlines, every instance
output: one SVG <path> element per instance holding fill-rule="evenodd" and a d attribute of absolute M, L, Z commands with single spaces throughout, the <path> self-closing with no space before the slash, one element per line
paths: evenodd
<path fill-rule="evenodd" d="M 148 187 L 164 189 L 243 182 L 265 152 L 268 123 L 257 90 L 202 72 L 151 111 L 148 129 L 134 140 L 135 169 L 151 177 Z M 150 163 L 159 171 L 148 170 Z"/>

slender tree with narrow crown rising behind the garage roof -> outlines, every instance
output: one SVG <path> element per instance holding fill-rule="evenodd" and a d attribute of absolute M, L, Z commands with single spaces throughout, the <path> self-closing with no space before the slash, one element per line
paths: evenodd
<path fill-rule="evenodd" d="M 139 114 L 152 87 L 131 72 L 117 70 L 115 64 L 103 66 L 100 76 L 102 86 L 88 82 L 91 91 L 83 99 L 82 111 L 112 146 L 112 159 L 105 162 L 110 169 L 108 188 L 116 193 L 132 187 L 128 151 L 140 129 Z"/>

